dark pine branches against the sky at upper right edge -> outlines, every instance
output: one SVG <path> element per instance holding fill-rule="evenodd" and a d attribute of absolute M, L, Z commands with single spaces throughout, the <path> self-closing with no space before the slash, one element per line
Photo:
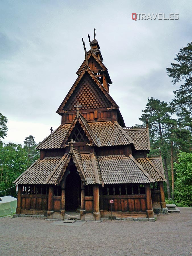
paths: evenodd
<path fill-rule="evenodd" d="M 176 63 L 171 63 L 172 67 L 167 68 L 168 76 L 173 78 L 173 84 L 183 79 L 185 82 L 179 90 L 174 91 L 172 106 L 176 108 L 177 113 L 181 113 L 182 108 L 192 112 L 192 42 L 180 49 L 174 60 Z"/>

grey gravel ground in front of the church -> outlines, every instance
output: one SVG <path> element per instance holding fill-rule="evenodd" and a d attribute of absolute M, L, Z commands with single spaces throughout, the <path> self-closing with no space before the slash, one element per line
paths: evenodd
<path fill-rule="evenodd" d="M 52 225 L 40 218 L 0 218 L 0 255 L 192 255 L 192 208 L 156 222 L 87 221 Z"/>

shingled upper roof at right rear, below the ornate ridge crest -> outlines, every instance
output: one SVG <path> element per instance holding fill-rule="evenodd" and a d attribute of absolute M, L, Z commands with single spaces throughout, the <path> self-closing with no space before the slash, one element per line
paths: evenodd
<path fill-rule="evenodd" d="M 150 150 L 149 134 L 147 128 L 123 129 L 133 140 L 136 150 Z"/>

